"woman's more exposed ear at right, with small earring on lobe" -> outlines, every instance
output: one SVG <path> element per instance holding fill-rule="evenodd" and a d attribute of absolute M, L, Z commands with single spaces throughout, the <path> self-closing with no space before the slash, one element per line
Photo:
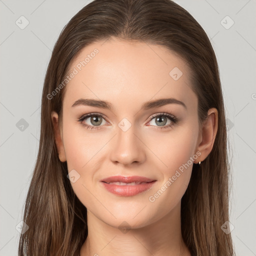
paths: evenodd
<path fill-rule="evenodd" d="M 210 153 L 216 137 L 218 128 L 218 111 L 216 108 L 210 108 L 207 112 L 207 118 L 203 121 L 201 131 L 198 136 L 197 149 L 201 152 L 198 161 L 203 161 Z"/>

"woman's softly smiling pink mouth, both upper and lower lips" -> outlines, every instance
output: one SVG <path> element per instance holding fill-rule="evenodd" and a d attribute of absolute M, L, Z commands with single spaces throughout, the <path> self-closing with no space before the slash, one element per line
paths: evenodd
<path fill-rule="evenodd" d="M 149 190 L 156 182 L 155 179 L 142 176 L 111 176 L 100 181 L 109 192 L 121 196 L 132 196 Z"/>

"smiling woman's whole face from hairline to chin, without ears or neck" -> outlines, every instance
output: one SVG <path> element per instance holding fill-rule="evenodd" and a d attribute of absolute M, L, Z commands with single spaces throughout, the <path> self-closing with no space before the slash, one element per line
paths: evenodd
<path fill-rule="evenodd" d="M 84 47 L 71 72 L 58 148 L 79 200 L 116 227 L 170 214 L 199 160 L 197 97 L 186 62 L 160 45 L 116 39 Z M 110 176 L 147 180 L 107 184 Z"/>

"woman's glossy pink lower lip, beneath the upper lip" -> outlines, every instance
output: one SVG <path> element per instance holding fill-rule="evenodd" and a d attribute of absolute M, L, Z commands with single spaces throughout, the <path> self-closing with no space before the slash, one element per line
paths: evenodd
<path fill-rule="evenodd" d="M 151 186 L 155 183 L 155 180 L 151 182 L 143 183 L 143 184 L 137 184 L 137 185 L 116 185 L 116 184 L 108 184 L 103 181 L 101 181 L 101 183 L 109 192 L 113 194 L 118 194 L 121 196 L 132 196 L 150 189 Z"/>

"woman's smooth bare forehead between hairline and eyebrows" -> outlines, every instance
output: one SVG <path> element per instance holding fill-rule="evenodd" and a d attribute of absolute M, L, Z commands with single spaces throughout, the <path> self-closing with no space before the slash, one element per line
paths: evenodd
<path fill-rule="evenodd" d="M 69 75 L 73 73 L 73 75 Z M 94 42 L 72 60 L 63 105 L 79 98 L 107 100 L 115 105 L 163 97 L 197 106 L 186 61 L 162 45 L 126 40 Z"/>

